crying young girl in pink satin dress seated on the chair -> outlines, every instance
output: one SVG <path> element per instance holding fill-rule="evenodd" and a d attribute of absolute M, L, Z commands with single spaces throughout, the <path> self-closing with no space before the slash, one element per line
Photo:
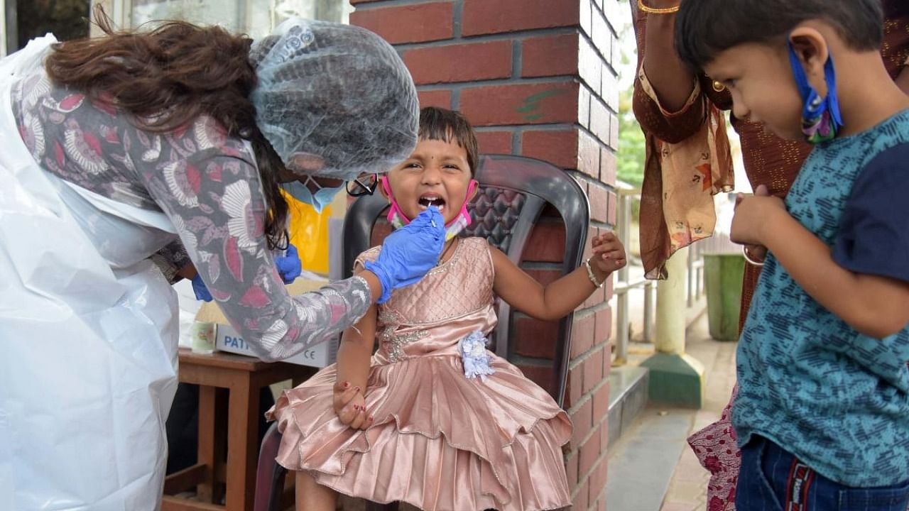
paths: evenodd
<path fill-rule="evenodd" d="M 381 182 L 402 225 L 438 208 L 439 265 L 345 332 L 335 366 L 278 399 L 278 462 L 297 471 L 298 510 L 335 509 L 337 492 L 426 510 L 535 511 L 571 505 L 561 446 L 568 416 L 544 389 L 485 350 L 494 296 L 528 316 L 568 314 L 625 265 L 608 233 L 570 275 L 541 286 L 483 238 L 457 237 L 476 194 L 476 139 L 458 113 L 425 108 L 414 154 Z M 364 271 L 380 247 L 356 261 Z M 375 339 L 379 349 L 371 357 Z"/>

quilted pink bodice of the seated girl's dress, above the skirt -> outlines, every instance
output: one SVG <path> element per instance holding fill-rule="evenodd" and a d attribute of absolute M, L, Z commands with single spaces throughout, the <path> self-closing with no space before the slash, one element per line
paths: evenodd
<path fill-rule="evenodd" d="M 374 260 L 380 248 L 367 250 L 357 261 Z M 377 358 L 395 362 L 449 353 L 475 330 L 488 335 L 496 324 L 489 250 L 484 238 L 463 238 L 448 261 L 415 285 L 395 290 L 379 306 Z"/>

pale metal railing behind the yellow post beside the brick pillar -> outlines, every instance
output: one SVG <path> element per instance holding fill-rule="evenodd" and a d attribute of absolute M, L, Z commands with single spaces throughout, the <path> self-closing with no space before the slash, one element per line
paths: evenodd
<path fill-rule="evenodd" d="M 616 185 L 616 195 L 618 204 L 616 205 L 616 225 L 615 231 L 619 238 L 630 247 L 631 225 L 632 225 L 632 205 L 634 201 L 641 200 L 641 190 L 632 185 L 618 183 Z M 700 244 L 695 243 L 688 247 L 688 271 L 686 282 L 686 304 L 687 307 L 695 306 L 697 301 L 704 296 L 704 256 L 703 248 Z M 630 321 L 630 300 L 629 292 L 633 289 L 641 288 L 644 290 L 644 326 L 643 341 L 654 341 L 654 329 L 656 325 L 656 297 L 654 296 L 657 282 L 648 280 L 644 276 L 631 278 L 630 265 L 624 266 L 616 272 L 616 278 L 613 286 L 615 296 L 615 351 L 613 366 L 624 366 L 628 361 L 628 345 L 631 341 Z"/>

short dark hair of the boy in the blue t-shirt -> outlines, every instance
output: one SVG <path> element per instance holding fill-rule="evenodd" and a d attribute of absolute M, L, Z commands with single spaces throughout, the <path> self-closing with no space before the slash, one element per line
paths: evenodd
<path fill-rule="evenodd" d="M 856 51 L 880 49 L 884 40 L 880 0 L 684 0 L 675 51 L 686 65 L 703 69 L 733 46 L 770 43 L 810 19 L 832 25 Z"/>

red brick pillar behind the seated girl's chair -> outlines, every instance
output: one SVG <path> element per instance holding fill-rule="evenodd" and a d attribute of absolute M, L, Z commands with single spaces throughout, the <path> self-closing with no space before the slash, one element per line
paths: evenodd
<path fill-rule="evenodd" d="M 540 158 L 570 171 L 591 203 L 595 235 L 615 222 L 618 0 L 351 0 L 354 25 L 398 49 L 422 105 L 460 110 L 482 153 Z M 589 244 L 588 244 L 589 245 Z M 523 266 L 541 282 L 559 275 L 564 225 L 534 231 Z M 589 252 L 589 250 L 588 250 Z M 575 315 L 565 406 L 574 420 L 566 456 L 574 510 L 604 510 L 611 282 Z M 512 346 L 525 374 L 545 382 L 552 323 L 519 317 Z"/>

